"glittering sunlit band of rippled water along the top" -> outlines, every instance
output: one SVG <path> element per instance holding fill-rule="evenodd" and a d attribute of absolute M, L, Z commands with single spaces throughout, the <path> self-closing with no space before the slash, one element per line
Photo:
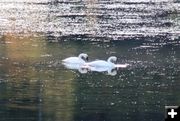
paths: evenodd
<path fill-rule="evenodd" d="M 179 3 L 161 1 L 0 2 L 1 34 L 38 32 L 53 36 L 178 38 Z"/>

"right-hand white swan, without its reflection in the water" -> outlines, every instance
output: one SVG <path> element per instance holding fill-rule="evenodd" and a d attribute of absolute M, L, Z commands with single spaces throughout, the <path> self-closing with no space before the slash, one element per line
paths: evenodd
<path fill-rule="evenodd" d="M 114 62 L 117 61 L 117 57 L 111 56 L 108 58 L 107 61 L 105 60 L 96 60 L 92 62 L 88 62 L 84 64 L 84 67 L 109 67 L 109 68 L 115 68 L 116 64 Z"/>

